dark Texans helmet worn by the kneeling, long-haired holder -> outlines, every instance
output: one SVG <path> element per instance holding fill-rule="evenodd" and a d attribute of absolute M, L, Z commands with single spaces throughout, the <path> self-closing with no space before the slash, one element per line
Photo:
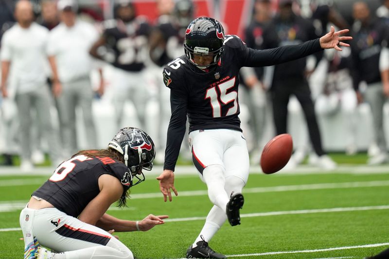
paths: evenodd
<path fill-rule="evenodd" d="M 112 148 L 123 155 L 124 164 L 130 170 L 132 177 L 138 181 L 132 186 L 144 181 L 142 169 L 150 171 L 153 168 L 155 158 L 155 146 L 147 133 L 138 128 L 125 127 L 108 143 Z M 141 175 L 139 177 L 138 175 Z"/>

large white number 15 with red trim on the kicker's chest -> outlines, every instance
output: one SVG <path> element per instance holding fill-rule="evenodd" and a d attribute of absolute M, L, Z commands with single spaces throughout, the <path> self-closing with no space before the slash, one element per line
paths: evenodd
<path fill-rule="evenodd" d="M 232 91 L 230 93 L 227 93 L 227 91 L 234 87 L 235 85 L 235 77 L 232 77 L 230 80 L 225 81 L 221 84 L 218 84 L 217 86 L 213 86 L 211 88 L 207 89 L 207 92 L 205 94 L 205 99 L 211 99 L 211 107 L 212 107 L 212 117 L 222 117 L 222 116 L 229 116 L 232 114 L 235 114 L 238 111 L 238 92 Z M 220 90 L 220 98 L 218 98 L 218 92 L 216 90 L 216 87 L 219 87 Z M 220 99 L 220 100 L 219 100 Z M 234 102 L 232 107 L 230 107 L 225 115 L 222 115 L 222 105 L 229 104 L 230 102 Z"/>

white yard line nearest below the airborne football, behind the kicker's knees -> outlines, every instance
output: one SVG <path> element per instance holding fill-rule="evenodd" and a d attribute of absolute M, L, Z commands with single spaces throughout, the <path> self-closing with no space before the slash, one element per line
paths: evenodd
<path fill-rule="evenodd" d="M 265 192 L 283 192 L 283 191 L 299 191 L 299 190 L 326 190 L 326 189 L 350 189 L 350 188 L 365 188 L 365 187 L 383 187 L 389 186 L 389 181 L 366 181 L 366 182 L 346 182 L 346 183 L 322 183 L 322 184 L 302 184 L 302 185 L 283 185 L 271 187 L 255 187 L 246 188 L 244 193 L 265 193 Z M 188 196 L 206 196 L 207 190 L 188 190 L 180 191 L 180 197 Z M 162 198 L 160 192 L 138 193 L 131 194 L 131 199 L 150 199 Z M 4 201 L 0 202 L 0 213 L 22 209 L 27 204 L 26 201 Z M 109 210 L 120 210 L 117 207 L 110 207 Z M 124 210 L 134 210 L 133 207 L 125 207 Z"/>

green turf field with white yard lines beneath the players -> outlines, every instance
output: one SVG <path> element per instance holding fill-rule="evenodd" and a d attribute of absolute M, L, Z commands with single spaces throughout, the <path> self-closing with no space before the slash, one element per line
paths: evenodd
<path fill-rule="evenodd" d="M 248 259 L 363 258 L 388 248 L 389 169 L 344 171 L 250 174 L 242 224 L 224 224 L 210 246 L 230 258 Z M 0 176 L 1 259 L 23 258 L 19 211 L 47 178 Z M 133 188 L 128 208 L 108 211 L 131 220 L 149 213 L 170 216 L 148 232 L 117 234 L 136 258 L 183 258 L 198 235 L 212 207 L 206 186 L 195 174 L 177 174 L 176 187 L 180 196 L 164 203 L 155 175 L 150 176 Z"/>

